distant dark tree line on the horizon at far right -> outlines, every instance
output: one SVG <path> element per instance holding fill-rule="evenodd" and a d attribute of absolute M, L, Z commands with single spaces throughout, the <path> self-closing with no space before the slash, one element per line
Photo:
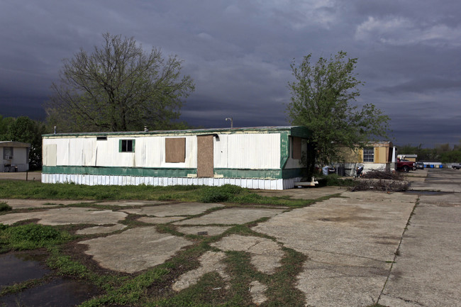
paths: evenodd
<path fill-rule="evenodd" d="M 399 146 L 399 155 L 418 155 L 421 162 L 461 162 L 461 140 L 460 143 L 450 147 L 450 144 L 435 145 L 433 148 L 423 148 L 423 144 L 418 146 L 404 145 Z"/>

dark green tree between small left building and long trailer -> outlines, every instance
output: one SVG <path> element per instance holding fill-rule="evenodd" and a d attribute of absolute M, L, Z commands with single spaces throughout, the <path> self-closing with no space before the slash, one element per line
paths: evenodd
<path fill-rule="evenodd" d="M 42 134 L 45 133 L 45 125 L 33 121 L 27 116 L 20 116 L 13 120 L 6 132 L 6 140 L 30 143 L 29 169 L 42 167 Z"/>

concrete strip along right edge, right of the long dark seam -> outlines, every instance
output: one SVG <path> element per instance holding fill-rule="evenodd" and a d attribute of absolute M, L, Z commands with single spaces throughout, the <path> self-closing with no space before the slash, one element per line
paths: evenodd
<path fill-rule="evenodd" d="M 461 187 L 453 170 L 429 172 L 428 186 Z M 402 238 L 384 306 L 461 306 L 461 194 L 423 195 Z"/>

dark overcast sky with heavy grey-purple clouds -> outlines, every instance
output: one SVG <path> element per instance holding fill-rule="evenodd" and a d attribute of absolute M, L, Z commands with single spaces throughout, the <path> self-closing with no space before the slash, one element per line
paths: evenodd
<path fill-rule="evenodd" d="M 0 26 L 3 116 L 44 119 L 62 59 L 109 32 L 184 59 L 191 125 L 288 125 L 291 61 L 343 50 L 365 82 L 357 103 L 391 117 L 390 140 L 461 140 L 459 0 L 1 0 Z"/>

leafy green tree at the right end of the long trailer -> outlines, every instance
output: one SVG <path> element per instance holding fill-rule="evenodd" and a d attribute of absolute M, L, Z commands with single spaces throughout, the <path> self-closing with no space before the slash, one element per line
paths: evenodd
<path fill-rule="evenodd" d="M 307 172 L 315 164 L 328 164 L 338 158 L 340 147 L 357 148 L 375 138 L 387 137 L 389 117 L 373 104 L 362 108 L 352 104 L 362 84 L 354 73 L 357 59 L 346 59 L 340 51 L 329 59 L 311 63 L 311 55 L 298 66 L 291 63 L 294 82 L 289 82 L 291 102 L 287 114 L 293 125 L 312 131 L 308 143 Z"/>

